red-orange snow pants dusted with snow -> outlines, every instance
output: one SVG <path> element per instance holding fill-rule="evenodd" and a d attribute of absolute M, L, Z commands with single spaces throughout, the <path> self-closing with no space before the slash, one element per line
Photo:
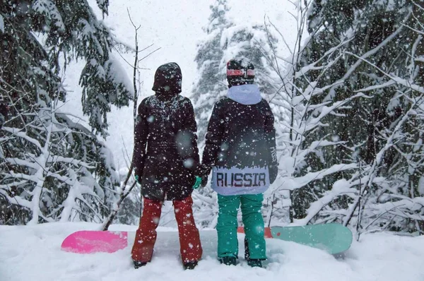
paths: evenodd
<path fill-rule="evenodd" d="M 144 198 L 143 215 L 140 218 L 139 229 L 136 231 L 136 240 L 131 251 L 134 261 L 147 263 L 151 261 L 153 247 L 156 241 L 156 228 L 159 225 L 162 211 L 161 201 Z M 202 254 L 199 229 L 194 223 L 193 200 L 188 196 L 182 201 L 174 203 L 175 219 L 178 225 L 179 246 L 182 263 L 199 261 Z"/>

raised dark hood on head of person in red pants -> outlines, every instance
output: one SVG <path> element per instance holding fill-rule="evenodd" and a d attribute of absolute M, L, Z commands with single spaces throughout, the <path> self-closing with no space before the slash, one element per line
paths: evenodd
<path fill-rule="evenodd" d="M 152 90 L 161 94 L 176 95 L 181 92 L 181 83 L 181 68 L 175 62 L 170 62 L 156 69 Z"/>

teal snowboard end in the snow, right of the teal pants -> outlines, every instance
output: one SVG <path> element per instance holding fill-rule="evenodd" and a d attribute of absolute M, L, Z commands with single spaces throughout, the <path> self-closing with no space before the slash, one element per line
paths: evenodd
<path fill-rule="evenodd" d="M 271 227 L 274 239 L 322 249 L 331 254 L 343 253 L 352 243 L 352 232 L 338 223 L 306 225 L 304 227 Z"/>

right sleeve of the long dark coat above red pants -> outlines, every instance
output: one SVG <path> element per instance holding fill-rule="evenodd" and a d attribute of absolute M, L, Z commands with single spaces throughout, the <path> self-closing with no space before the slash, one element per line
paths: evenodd
<path fill-rule="evenodd" d="M 184 106 L 184 122 L 177 132 L 175 142 L 184 167 L 196 171 L 199 166 L 199 148 L 197 148 L 197 125 L 194 119 L 192 102 L 187 99 Z"/>

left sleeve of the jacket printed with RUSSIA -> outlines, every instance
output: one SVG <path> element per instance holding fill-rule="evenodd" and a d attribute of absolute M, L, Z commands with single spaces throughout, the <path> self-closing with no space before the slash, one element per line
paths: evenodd
<path fill-rule="evenodd" d="M 224 117 L 223 104 L 221 101 L 216 102 L 213 107 L 211 119 L 209 119 L 208 131 L 206 132 L 206 143 L 202 157 L 202 166 L 206 169 L 206 174 L 209 174 L 212 167 L 215 165 L 220 145 L 224 133 Z"/>

